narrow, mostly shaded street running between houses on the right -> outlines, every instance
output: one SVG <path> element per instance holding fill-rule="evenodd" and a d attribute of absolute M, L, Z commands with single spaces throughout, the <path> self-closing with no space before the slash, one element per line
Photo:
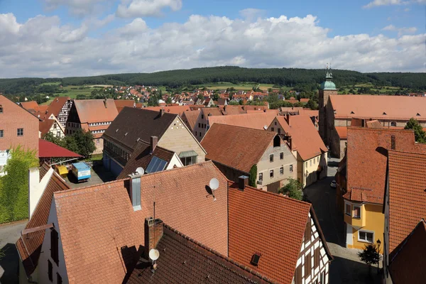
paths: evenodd
<path fill-rule="evenodd" d="M 376 274 L 377 268 L 371 268 L 371 273 L 368 273 L 368 266 L 361 263 L 356 255 L 359 250 L 344 247 L 343 215 L 336 207 L 336 189 L 330 187 L 330 182 L 334 180 L 337 171 L 335 167 L 337 160 L 332 159 L 332 163 L 329 165 L 333 166 L 328 167 L 328 177 L 305 189 L 320 220 L 329 249 L 334 256 L 334 261 L 330 265 L 329 283 L 380 283 Z"/>

